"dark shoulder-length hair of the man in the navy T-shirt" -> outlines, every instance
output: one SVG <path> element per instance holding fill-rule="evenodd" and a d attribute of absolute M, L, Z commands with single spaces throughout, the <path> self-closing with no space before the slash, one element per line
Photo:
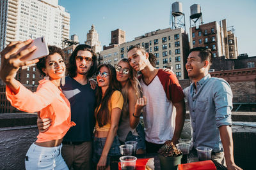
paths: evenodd
<path fill-rule="evenodd" d="M 90 45 L 77 45 L 74 52 L 70 55 L 69 63 L 68 63 L 68 75 L 70 77 L 76 77 L 77 75 L 77 66 L 76 66 L 76 55 L 79 50 L 89 51 L 92 53 L 92 66 L 90 70 L 86 73 L 86 77 L 90 78 L 97 70 L 97 55 L 92 50 L 92 46 Z"/>

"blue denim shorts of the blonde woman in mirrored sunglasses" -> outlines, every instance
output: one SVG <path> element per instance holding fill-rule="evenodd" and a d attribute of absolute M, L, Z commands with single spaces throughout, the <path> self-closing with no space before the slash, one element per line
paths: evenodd
<path fill-rule="evenodd" d="M 136 131 L 138 133 L 139 136 L 135 136 L 132 134 L 132 132 L 130 131 L 127 136 L 125 141 L 136 141 L 138 142 L 137 144 L 137 150 L 138 149 L 146 149 L 146 144 L 145 144 L 145 132 L 144 129 L 142 127 L 141 124 L 138 124 L 138 126 L 136 127 Z"/>

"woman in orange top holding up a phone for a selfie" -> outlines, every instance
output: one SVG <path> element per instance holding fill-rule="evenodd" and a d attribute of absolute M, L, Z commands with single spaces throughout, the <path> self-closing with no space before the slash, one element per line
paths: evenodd
<path fill-rule="evenodd" d="M 0 70 L 1 79 L 6 83 L 6 97 L 12 106 L 26 112 L 40 111 L 40 117 L 52 119 L 49 131 L 40 132 L 36 142 L 30 146 L 25 159 L 26 169 L 68 169 L 61 157 L 61 141 L 68 129 L 75 124 L 71 122 L 70 103 L 60 89 L 61 78 L 65 76 L 66 70 L 63 52 L 56 46 L 49 46 L 47 57 L 24 62 L 20 59 L 32 53 L 36 46 L 21 52 L 19 50 L 31 42 L 29 39 L 6 46 L 1 52 Z M 35 63 L 47 78 L 39 81 L 40 84 L 33 93 L 15 80 L 15 75 L 20 66 Z"/>

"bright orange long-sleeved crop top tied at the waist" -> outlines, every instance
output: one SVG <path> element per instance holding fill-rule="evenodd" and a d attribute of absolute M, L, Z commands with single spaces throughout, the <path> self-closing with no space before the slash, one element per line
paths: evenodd
<path fill-rule="evenodd" d="M 49 130 L 37 136 L 36 142 L 61 139 L 73 125 L 70 103 L 58 87 L 49 80 L 40 80 L 36 92 L 26 89 L 21 83 L 19 92 L 13 94 L 6 86 L 6 97 L 15 108 L 26 111 L 40 111 L 40 118 L 51 118 Z"/>

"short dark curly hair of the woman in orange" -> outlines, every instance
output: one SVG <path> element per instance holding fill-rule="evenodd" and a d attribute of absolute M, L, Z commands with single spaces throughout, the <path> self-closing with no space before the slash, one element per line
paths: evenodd
<path fill-rule="evenodd" d="M 60 54 L 60 56 L 63 58 L 64 56 L 64 53 L 63 51 L 61 50 L 61 48 L 57 47 L 57 46 L 54 46 L 54 45 L 48 45 L 48 50 L 49 50 L 49 55 L 53 55 L 54 53 L 58 53 Z M 43 71 L 43 68 L 45 68 L 45 60 L 47 59 L 47 57 L 49 56 L 45 56 L 41 59 L 39 59 L 38 62 L 36 62 L 36 68 L 39 69 L 40 73 L 45 76 L 45 73 Z"/>

